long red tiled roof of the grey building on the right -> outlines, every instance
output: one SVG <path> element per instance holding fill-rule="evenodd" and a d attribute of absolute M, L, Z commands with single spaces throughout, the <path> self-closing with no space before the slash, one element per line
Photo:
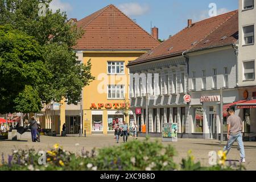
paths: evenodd
<path fill-rule="evenodd" d="M 225 46 L 237 40 L 238 10 L 193 23 L 191 27 L 184 28 L 160 46 L 129 63 L 128 66 L 181 55 L 184 51 Z"/>

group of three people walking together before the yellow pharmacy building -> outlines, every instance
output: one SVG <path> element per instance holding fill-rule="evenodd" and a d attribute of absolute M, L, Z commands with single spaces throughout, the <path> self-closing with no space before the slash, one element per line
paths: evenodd
<path fill-rule="evenodd" d="M 119 137 L 123 137 L 123 142 L 127 142 L 128 136 L 130 131 L 133 133 L 133 139 L 137 139 L 137 124 L 136 122 L 133 123 L 131 128 L 129 129 L 127 123 L 124 121 L 121 126 L 117 125 L 115 128 L 115 139 L 117 139 L 117 143 L 119 143 Z"/>

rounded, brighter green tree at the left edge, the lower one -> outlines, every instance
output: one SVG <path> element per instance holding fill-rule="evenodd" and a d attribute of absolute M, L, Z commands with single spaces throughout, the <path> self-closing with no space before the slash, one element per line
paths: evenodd
<path fill-rule="evenodd" d="M 41 110 L 36 88 L 49 78 L 42 46 L 22 31 L 0 26 L 0 113 Z"/>

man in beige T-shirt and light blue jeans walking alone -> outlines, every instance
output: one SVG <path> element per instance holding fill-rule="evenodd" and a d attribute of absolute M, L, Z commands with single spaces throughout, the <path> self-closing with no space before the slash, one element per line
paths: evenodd
<path fill-rule="evenodd" d="M 228 109 L 229 117 L 227 119 L 228 125 L 228 143 L 224 147 L 224 151 L 229 153 L 234 142 L 237 141 L 238 148 L 240 150 L 241 163 L 245 163 L 245 148 L 243 146 L 243 136 L 242 136 L 242 120 L 240 117 L 234 114 L 234 109 Z"/>

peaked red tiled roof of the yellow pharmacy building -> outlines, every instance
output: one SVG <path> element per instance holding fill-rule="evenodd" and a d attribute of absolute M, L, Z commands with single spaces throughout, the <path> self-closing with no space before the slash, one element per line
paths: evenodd
<path fill-rule="evenodd" d="M 74 49 L 143 51 L 160 44 L 114 5 L 79 20 L 77 26 L 84 28 L 85 34 Z"/>

